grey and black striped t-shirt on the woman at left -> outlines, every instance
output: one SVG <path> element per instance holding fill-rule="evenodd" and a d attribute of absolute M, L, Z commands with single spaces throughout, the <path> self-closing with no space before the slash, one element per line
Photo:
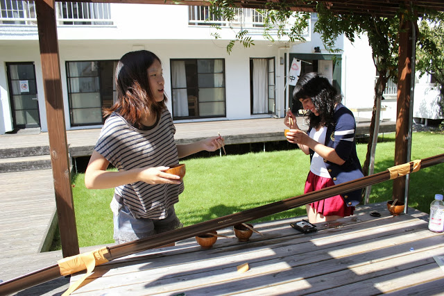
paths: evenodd
<path fill-rule="evenodd" d="M 117 170 L 136 167 L 159 167 L 179 163 L 174 142 L 171 113 L 165 108 L 153 129 L 142 131 L 131 126 L 119 114 L 112 113 L 103 125 L 94 150 L 105 157 Z M 114 193 L 123 198 L 137 218 L 164 219 L 167 208 L 179 201 L 183 183 L 148 184 L 142 181 L 118 186 Z"/>

